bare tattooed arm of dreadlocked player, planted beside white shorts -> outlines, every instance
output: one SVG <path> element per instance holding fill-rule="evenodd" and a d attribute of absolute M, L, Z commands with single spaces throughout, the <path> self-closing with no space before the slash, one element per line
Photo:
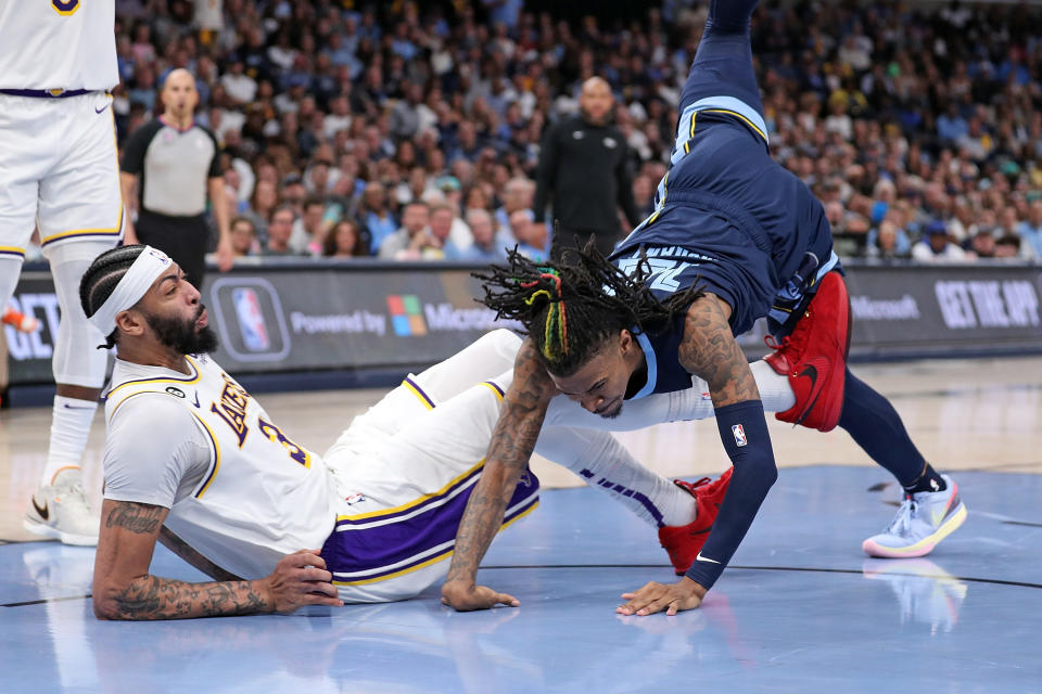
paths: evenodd
<path fill-rule="evenodd" d="M 546 408 L 557 393 L 531 339 L 521 345 L 513 364 L 513 382 L 503 399 L 485 458 L 456 532 L 456 548 L 442 602 L 456 609 L 482 609 L 517 600 L 475 586 L 478 565 L 503 524 L 518 479 L 529 464 L 543 427 Z"/>

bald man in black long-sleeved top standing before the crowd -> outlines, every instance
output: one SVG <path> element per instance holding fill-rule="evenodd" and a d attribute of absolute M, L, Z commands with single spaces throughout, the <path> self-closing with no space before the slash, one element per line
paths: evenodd
<path fill-rule="evenodd" d="M 622 207 L 632 227 L 640 221 L 633 202 L 633 181 L 626 168 L 626 141 L 610 125 L 613 99 L 600 77 L 583 82 L 580 115 L 551 126 L 543 138 L 536 176 L 535 221 L 543 223 L 552 196 L 555 221 L 550 255 L 561 259 L 576 240 L 585 245 L 593 234 L 601 254 L 619 241 Z"/>

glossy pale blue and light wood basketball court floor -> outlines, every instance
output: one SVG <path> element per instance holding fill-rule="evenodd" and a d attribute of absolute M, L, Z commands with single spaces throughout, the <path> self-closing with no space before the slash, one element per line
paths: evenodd
<path fill-rule="evenodd" d="M 496 541 L 479 579 L 521 606 L 478 614 L 448 611 L 432 589 L 292 616 L 100 622 L 87 597 L 93 550 L 14 542 L 0 545 L 0 681 L 120 693 L 1042 692 L 1042 362 L 859 373 L 893 398 L 931 462 L 957 471 L 969 517 L 928 557 L 865 557 L 861 541 L 894 512 L 889 475 L 841 432 L 776 425 L 779 480 L 691 613 L 614 614 L 620 593 L 673 576 L 655 531 L 586 488 L 544 492 Z M 289 427 L 321 449 L 376 395 L 259 399 L 280 421 L 298 413 Z M 0 538 L 23 537 L 48 423 L 43 410 L 0 416 Z M 715 437 L 712 423 L 695 423 L 621 438 L 664 474 L 690 477 L 724 468 Z M 163 548 L 152 570 L 202 579 Z"/>

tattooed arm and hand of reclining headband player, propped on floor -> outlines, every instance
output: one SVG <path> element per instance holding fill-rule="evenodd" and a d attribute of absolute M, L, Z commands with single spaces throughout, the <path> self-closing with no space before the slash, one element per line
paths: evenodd
<path fill-rule="evenodd" d="M 259 580 L 191 583 L 148 573 L 168 510 L 106 499 L 94 556 L 94 614 L 100 619 L 182 619 L 291 612 L 342 604 L 317 550 L 291 554 Z"/>

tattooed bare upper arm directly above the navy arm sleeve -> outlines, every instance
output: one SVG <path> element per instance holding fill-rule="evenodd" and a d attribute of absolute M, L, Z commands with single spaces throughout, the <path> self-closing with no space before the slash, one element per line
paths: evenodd
<path fill-rule="evenodd" d="M 759 400 L 749 360 L 730 331 L 730 307 L 713 294 L 691 304 L 684 323 L 679 361 L 709 384 L 713 407 Z"/>

